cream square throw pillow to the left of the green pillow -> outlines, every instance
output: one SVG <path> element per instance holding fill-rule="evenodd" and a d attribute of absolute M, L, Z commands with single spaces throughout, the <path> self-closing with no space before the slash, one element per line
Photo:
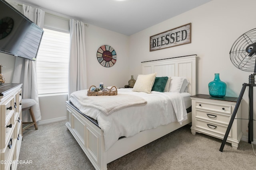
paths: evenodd
<path fill-rule="evenodd" d="M 132 91 L 151 93 L 155 79 L 156 79 L 156 73 L 146 74 L 146 75 L 139 74 L 133 86 Z"/>

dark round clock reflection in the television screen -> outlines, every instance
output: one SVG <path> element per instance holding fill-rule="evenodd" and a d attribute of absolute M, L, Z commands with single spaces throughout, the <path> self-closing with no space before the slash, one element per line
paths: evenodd
<path fill-rule="evenodd" d="M 13 28 L 13 20 L 10 17 L 5 17 L 0 20 L 0 39 L 9 35 Z"/>

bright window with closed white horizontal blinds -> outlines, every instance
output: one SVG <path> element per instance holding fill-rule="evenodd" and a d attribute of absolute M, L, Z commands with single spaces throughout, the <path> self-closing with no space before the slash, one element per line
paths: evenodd
<path fill-rule="evenodd" d="M 38 94 L 68 92 L 70 34 L 44 29 L 36 57 Z"/>

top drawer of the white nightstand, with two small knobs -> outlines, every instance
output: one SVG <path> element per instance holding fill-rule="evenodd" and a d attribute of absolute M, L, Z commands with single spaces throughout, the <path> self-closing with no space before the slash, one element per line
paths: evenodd
<path fill-rule="evenodd" d="M 208 103 L 208 102 L 200 102 L 196 101 L 196 109 L 204 109 L 208 111 L 216 111 L 219 113 L 226 113 L 231 114 L 232 106 L 230 105 L 223 105 L 223 104 L 215 104 L 215 103 Z"/>

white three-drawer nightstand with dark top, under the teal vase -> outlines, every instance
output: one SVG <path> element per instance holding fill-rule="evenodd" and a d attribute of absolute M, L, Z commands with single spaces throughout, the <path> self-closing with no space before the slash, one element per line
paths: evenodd
<path fill-rule="evenodd" d="M 223 139 L 238 98 L 226 96 L 217 98 L 206 94 L 197 94 L 190 98 L 192 100 L 191 133 L 193 135 L 196 135 L 196 132 L 204 133 Z M 242 137 L 241 119 L 236 118 L 241 118 L 240 107 L 226 141 L 231 143 L 234 149 L 238 148 Z"/>

